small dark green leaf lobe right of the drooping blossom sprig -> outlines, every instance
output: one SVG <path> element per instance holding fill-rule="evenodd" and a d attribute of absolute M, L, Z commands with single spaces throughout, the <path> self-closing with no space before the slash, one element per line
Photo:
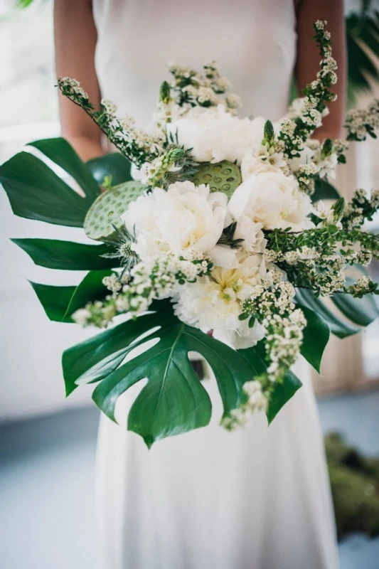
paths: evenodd
<path fill-rule="evenodd" d="M 326 321 L 317 312 L 298 304 L 306 318 L 306 328 L 301 345 L 301 354 L 311 366 L 320 373 L 321 360 L 328 344 L 331 330 Z"/>

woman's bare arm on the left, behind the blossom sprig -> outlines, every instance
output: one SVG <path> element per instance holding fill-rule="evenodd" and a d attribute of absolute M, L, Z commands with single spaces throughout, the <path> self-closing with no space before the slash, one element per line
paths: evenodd
<path fill-rule="evenodd" d="M 97 33 L 91 0 L 55 0 L 55 70 L 60 77 L 77 79 L 90 101 L 100 104 L 95 71 Z M 80 107 L 59 95 L 62 136 L 83 160 L 104 154 L 100 129 Z"/>

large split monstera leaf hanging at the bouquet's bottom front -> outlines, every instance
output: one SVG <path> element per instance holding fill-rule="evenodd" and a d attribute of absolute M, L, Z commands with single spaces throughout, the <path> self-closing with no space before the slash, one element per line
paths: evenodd
<path fill-rule="evenodd" d="M 117 399 L 132 385 L 147 379 L 129 411 L 127 427 L 141 435 L 149 447 L 154 441 L 208 425 L 208 393 L 188 359 L 201 353 L 215 374 L 224 416 L 245 398 L 242 386 L 265 371 L 259 349 L 235 351 L 198 329 L 183 324 L 169 302 L 157 302 L 157 312 L 128 320 L 73 346 L 63 354 L 66 392 L 82 383 L 100 382 L 94 390 L 97 406 L 112 420 Z M 130 352 L 146 344 L 146 351 Z M 129 354 L 129 361 L 122 363 Z M 292 373 L 274 394 L 267 416 L 273 420 L 301 383 Z"/>

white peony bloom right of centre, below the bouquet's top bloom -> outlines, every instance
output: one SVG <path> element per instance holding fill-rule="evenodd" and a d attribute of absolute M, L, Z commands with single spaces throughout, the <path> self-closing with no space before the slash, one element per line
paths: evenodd
<path fill-rule="evenodd" d="M 255 250 L 258 228 L 299 231 L 313 226 L 307 218 L 312 211 L 309 196 L 299 190 L 294 176 L 282 171 L 261 172 L 242 182 L 228 208 L 237 221 L 235 236 L 245 239 L 242 247 L 247 250 Z"/>

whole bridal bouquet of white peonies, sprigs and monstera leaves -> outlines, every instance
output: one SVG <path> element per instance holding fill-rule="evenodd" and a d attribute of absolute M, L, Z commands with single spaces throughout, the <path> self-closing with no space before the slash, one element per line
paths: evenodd
<path fill-rule="evenodd" d="M 106 329 L 63 354 L 66 391 L 99 382 L 93 399 L 114 420 L 119 396 L 147 380 L 128 429 L 149 446 L 210 421 L 188 353 L 212 368 L 225 427 L 254 410 L 271 421 L 301 386 L 290 371 L 300 353 L 319 370 L 331 331 L 354 334 L 377 314 L 378 285 L 363 267 L 378 257 L 378 236 L 362 225 L 379 192 L 358 189 L 345 203 L 329 181 L 350 141 L 375 137 L 379 102 L 348 113 L 345 140 L 311 138 L 337 79 L 325 22 L 314 30 L 319 73 L 278 122 L 238 117 L 214 62 L 203 74 L 169 65 L 146 132 L 59 78 L 119 154 L 83 164 L 63 139 L 31 144 L 78 191 L 30 152 L 1 166 L 14 213 L 84 227 L 101 242 L 14 240 L 39 265 L 90 271 L 78 287 L 32 283 L 50 319 Z"/>

